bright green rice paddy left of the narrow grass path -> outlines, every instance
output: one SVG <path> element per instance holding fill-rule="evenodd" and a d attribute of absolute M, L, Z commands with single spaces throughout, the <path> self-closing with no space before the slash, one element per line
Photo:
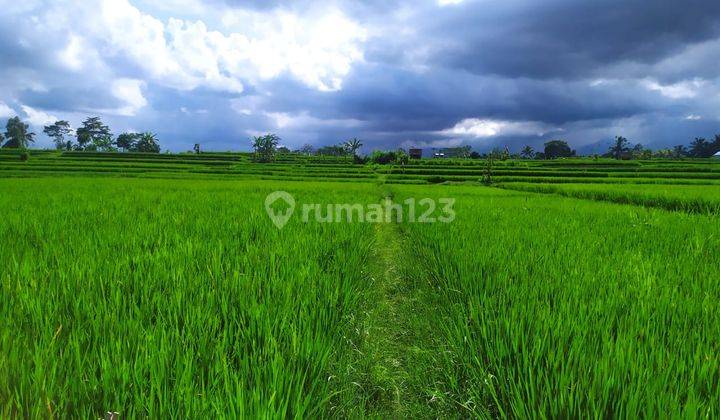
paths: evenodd
<path fill-rule="evenodd" d="M 330 414 L 352 388 L 338 366 L 369 293 L 370 226 L 278 231 L 263 200 L 279 187 L 1 180 L 2 417 Z"/>

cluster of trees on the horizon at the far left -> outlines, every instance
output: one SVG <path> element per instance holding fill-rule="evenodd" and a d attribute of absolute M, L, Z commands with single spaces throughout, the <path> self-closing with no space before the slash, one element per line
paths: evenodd
<path fill-rule="evenodd" d="M 144 152 L 160 153 L 157 135 L 151 132 L 122 133 L 113 137 L 110 127 L 100 117 L 89 117 L 76 130 L 65 120 L 55 121 L 43 127 L 57 150 L 85 150 L 99 152 Z M 4 148 L 27 149 L 35 142 L 35 133 L 19 117 L 12 117 L 0 133 L 0 145 Z"/>

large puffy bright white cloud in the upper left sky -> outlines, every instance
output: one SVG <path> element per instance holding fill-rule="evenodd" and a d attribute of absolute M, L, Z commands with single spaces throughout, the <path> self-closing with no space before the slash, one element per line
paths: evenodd
<path fill-rule="evenodd" d="M 76 19 L 63 22 L 58 15 Z M 339 90 L 353 63 L 362 61 L 366 39 L 360 25 L 334 9 L 226 10 L 225 33 L 203 20 L 162 21 L 128 0 L 101 0 L 92 8 L 58 1 L 44 16 L 48 28 L 83 34 L 71 35 L 58 53 L 65 67 L 82 68 L 89 49 L 104 59 L 129 60 L 154 82 L 185 90 L 240 93 L 244 83 L 282 74 L 321 91 Z"/>

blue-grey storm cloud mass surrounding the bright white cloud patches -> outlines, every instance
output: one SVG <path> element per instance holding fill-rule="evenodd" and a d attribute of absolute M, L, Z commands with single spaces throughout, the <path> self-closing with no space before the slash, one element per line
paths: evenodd
<path fill-rule="evenodd" d="M 112 81 L 144 80 L 147 106 L 133 116 L 109 113 L 107 119 L 116 131 L 157 131 L 176 150 L 195 142 L 247 149 L 253 133 L 268 131 L 292 147 L 359 136 L 368 150 L 443 142 L 514 149 L 562 136 L 582 150 L 616 134 L 664 146 L 720 130 L 718 1 L 205 4 L 218 14 L 340 10 L 367 30 L 360 45 L 364 61 L 352 63 L 342 88 L 332 92 L 288 72 L 243 79 L 242 93 L 222 87 L 183 90 L 148 78 L 143 63 L 106 46 L 78 76 L 57 65 L 65 36 L 34 25 L 29 15 L 0 16 L 0 102 L 57 111 L 53 115 L 119 109 L 126 100 L 112 91 Z M 95 45 L 92 39 L 83 42 Z M 448 134 L 466 119 L 530 123 L 547 131 L 479 138 Z"/>

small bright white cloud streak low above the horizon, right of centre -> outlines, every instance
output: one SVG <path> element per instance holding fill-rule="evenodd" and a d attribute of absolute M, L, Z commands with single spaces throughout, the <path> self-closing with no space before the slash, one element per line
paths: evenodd
<path fill-rule="evenodd" d="M 467 118 L 453 127 L 442 130 L 445 136 L 488 138 L 505 135 L 542 136 L 558 129 L 534 121 L 503 121 Z"/>

